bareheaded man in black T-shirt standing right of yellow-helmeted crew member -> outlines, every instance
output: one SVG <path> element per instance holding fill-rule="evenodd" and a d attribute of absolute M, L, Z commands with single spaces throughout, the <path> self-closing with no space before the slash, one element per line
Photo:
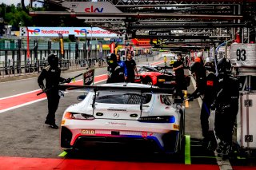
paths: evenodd
<path fill-rule="evenodd" d="M 131 57 L 131 54 L 128 53 L 126 62 L 126 68 L 127 68 L 127 82 L 134 83 L 135 78 L 135 72 L 138 75 L 138 70 L 136 67 L 136 62 Z"/>

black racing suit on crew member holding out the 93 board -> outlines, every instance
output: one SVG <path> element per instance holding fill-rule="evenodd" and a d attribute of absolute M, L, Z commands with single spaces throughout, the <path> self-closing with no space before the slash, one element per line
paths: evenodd
<path fill-rule="evenodd" d="M 38 77 L 38 85 L 42 89 L 45 89 L 43 80 L 46 79 L 46 96 L 48 100 L 48 115 L 46 117 L 47 125 L 55 125 L 55 112 L 58 109 L 59 95 L 58 95 L 58 84 L 64 82 L 66 79 L 60 77 L 61 69 L 58 67 L 52 68 L 50 65 L 42 69 Z"/>

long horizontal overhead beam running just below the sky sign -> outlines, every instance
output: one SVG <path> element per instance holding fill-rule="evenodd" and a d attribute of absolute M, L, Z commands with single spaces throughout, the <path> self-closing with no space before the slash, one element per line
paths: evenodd
<path fill-rule="evenodd" d="M 211 14 L 170 14 L 170 13 L 83 13 L 66 11 L 30 11 L 36 15 L 70 15 L 71 17 L 114 17 L 114 18 L 200 18 L 200 19 L 242 19 L 242 15 L 211 15 Z"/>

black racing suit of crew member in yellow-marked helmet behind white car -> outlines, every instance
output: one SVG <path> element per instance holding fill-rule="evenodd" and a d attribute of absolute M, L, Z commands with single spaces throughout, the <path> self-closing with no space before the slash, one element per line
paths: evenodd
<path fill-rule="evenodd" d="M 107 74 L 108 78 L 106 80 L 106 83 L 118 83 L 125 81 L 123 69 L 120 65 L 118 65 L 118 63 L 109 66 Z"/>

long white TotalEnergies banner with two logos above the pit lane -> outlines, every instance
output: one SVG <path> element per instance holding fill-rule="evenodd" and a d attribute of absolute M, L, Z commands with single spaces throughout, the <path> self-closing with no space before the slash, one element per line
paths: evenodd
<path fill-rule="evenodd" d="M 25 29 L 26 30 L 26 29 Z M 62 34 L 64 38 L 68 38 L 70 34 L 74 34 L 77 38 L 115 38 L 117 34 L 111 33 L 108 30 L 103 30 L 98 27 L 27 27 L 24 32 L 23 27 L 20 27 L 21 36 L 30 37 L 58 37 Z"/>

